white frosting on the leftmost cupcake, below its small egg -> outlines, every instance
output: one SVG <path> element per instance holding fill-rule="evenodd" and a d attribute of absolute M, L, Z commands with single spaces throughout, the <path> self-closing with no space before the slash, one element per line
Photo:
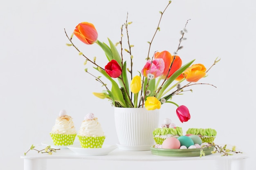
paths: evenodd
<path fill-rule="evenodd" d="M 76 134 L 76 128 L 72 117 L 68 115 L 57 117 L 51 133 L 66 135 Z"/>

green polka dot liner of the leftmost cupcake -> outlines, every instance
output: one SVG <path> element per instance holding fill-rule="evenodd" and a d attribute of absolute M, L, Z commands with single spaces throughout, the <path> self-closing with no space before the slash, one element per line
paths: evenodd
<path fill-rule="evenodd" d="M 53 134 L 50 133 L 54 145 L 57 146 L 68 146 L 73 145 L 76 138 L 76 134 L 65 135 L 65 134 Z"/>

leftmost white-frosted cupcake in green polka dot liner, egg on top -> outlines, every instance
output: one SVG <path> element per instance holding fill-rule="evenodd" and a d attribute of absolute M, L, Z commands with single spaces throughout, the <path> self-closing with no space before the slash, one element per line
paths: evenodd
<path fill-rule="evenodd" d="M 67 115 L 66 110 L 61 110 L 55 120 L 55 124 L 50 132 L 54 145 L 72 145 L 76 137 L 76 128 L 72 117 Z"/>

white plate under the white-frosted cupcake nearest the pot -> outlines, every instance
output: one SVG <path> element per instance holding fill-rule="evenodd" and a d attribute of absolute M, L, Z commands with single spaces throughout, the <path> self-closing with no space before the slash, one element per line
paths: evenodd
<path fill-rule="evenodd" d="M 116 145 L 102 145 L 101 148 L 82 148 L 80 144 L 67 146 L 70 150 L 81 155 L 108 155 L 109 152 L 117 148 Z"/>

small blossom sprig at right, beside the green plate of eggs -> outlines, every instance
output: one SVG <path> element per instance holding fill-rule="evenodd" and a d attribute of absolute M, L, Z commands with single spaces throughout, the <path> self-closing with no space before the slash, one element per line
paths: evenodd
<path fill-rule="evenodd" d="M 212 154 L 215 154 L 215 153 L 223 153 L 223 155 L 221 156 L 228 156 L 228 155 L 233 155 L 231 154 L 230 152 L 233 152 L 233 153 L 243 153 L 243 152 L 240 152 L 240 151 L 236 151 L 236 146 L 232 146 L 231 149 L 227 148 L 227 144 L 225 144 L 224 146 L 220 146 L 220 145 L 217 145 L 215 144 L 214 142 L 212 143 L 208 143 L 208 145 L 205 145 L 201 148 L 200 150 L 200 157 L 202 156 L 205 156 L 205 152 L 203 150 L 203 148 L 205 147 L 208 147 L 208 148 L 211 148 L 211 147 L 214 147 L 215 150 L 211 151 Z"/>

